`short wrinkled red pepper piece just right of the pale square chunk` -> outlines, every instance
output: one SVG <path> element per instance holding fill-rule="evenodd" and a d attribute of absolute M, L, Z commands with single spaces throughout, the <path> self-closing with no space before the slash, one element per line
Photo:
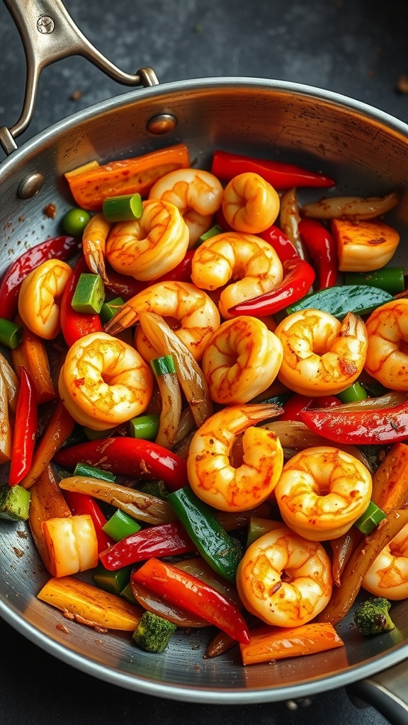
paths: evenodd
<path fill-rule="evenodd" d="M 144 559 L 178 556 L 194 551 L 196 551 L 195 545 L 181 523 L 172 521 L 136 531 L 136 534 L 131 534 L 102 551 L 99 559 L 105 569 L 115 571 Z"/>

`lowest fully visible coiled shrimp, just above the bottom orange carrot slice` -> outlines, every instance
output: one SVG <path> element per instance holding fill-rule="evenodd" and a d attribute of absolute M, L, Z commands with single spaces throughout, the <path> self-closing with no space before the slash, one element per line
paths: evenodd
<path fill-rule="evenodd" d="M 245 609 L 266 624 L 306 624 L 330 600 L 330 558 L 319 542 L 281 526 L 250 544 L 237 569 L 237 590 Z"/>

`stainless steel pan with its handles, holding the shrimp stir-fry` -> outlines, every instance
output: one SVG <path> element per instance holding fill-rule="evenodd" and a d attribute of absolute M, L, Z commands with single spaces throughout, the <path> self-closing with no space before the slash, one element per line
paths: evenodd
<path fill-rule="evenodd" d="M 0 165 L 0 273 L 23 249 L 57 232 L 71 201 L 62 174 L 97 159 L 128 157 L 184 141 L 197 165 L 216 147 L 297 162 L 338 180 L 336 193 L 401 194 L 392 223 L 407 257 L 408 126 L 357 101 L 295 83 L 258 78 L 208 78 L 158 85 L 154 72 L 127 75 L 86 41 L 58 0 L 4 0 L 28 58 L 23 115 L 0 130 L 8 158 Z M 143 84 L 62 120 L 17 149 L 15 138 L 33 112 L 42 67 L 83 54 L 117 80 Z M 44 213 L 55 204 L 55 220 Z M 165 654 L 132 647 L 127 636 L 69 623 L 36 599 L 46 573 L 23 525 L 0 526 L 0 615 L 57 658 L 99 679 L 139 692 L 205 703 L 261 703 L 338 687 L 371 703 L 394 724 L 406 724 L 408 601 L 393 607 L 396 629 L 356 637 L 351 615 L 340 625 L 346 647 L 280 663 L 243 668 L 232 650 L 203 659 L 204 635 L 180 632 Z"/>

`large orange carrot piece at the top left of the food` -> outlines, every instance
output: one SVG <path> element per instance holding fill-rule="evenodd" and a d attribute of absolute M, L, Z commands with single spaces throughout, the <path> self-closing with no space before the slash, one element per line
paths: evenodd
<path fill-rule="evenodd" d="M 143 156 L 110 162 L 103 166 L 74 169 L 65 173 L 71 194 L 82 209 L 98 211 L 107 196 L 145 196 L 165 174 L 189 167 L 185 144 L 168 146 Z"/>

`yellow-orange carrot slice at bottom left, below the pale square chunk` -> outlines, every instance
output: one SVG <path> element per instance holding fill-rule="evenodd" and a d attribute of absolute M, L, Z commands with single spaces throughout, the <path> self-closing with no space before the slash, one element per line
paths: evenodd
<path fill-rule="evenodd" d="M 37 595 L 81 624 L 105 629 L 134 631 L 142 608 L 73 576 L 50 579 Z"/>

